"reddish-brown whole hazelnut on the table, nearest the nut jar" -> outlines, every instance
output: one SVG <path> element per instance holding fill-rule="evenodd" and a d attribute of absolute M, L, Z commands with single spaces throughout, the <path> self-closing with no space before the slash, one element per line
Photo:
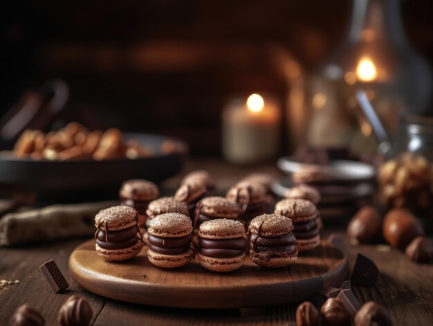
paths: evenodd
<path fill-rule="evenodd" d="M 385 215 L 383 237 L 391 246 L 405 250 L 412 239 L 423 234 L 423 226 L 408 210 L 395 208 Z"/>

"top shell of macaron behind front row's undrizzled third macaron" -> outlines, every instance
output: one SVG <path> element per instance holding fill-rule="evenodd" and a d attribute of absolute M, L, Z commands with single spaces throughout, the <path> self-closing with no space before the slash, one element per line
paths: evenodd
<path fill-rule="evenodd" d="M 203 214 L 216 218 L 237 219 L 241 215 L 239 205 L 224 197 L 206 197 L 200 201 L 198 207 Z"/>

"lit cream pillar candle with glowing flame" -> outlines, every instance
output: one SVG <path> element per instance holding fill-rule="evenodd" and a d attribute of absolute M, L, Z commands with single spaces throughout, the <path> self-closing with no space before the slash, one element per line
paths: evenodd
<path fill-rule="evenodd" d="M 232 163 L 272 159 L 279 150 L 281 111 L 273 100 L 252 94 L 223 111 L 223 154 Z"/>

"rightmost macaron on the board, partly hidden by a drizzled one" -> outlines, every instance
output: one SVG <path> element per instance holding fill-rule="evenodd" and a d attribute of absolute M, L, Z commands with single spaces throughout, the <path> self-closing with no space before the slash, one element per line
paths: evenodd
<path fill-rule="evenodd" d="M 320 244 L 320 228 L 314 203 L 306 199 L 283 199 L 275 204 L 274 212 L 293 221 L 293 233 L 299 251 L 312 250 Z"/>

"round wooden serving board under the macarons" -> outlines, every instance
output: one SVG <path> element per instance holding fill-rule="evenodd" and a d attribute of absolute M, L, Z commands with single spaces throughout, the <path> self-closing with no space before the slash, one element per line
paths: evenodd
<path fill-rule="evenodd" d="M 232 273 L 212 273 L 197 258 L 181 269 L 160 269 L 147 260 L 147 248 L 125 262 L 108 262 L 95 251 L 95 240 L 71 254 L 73 279 L 93 293 L 127 302 L 179 308 L 239 308 L 282 305 L 306 300 L 326 287 L 338 287 L 347 258 L 331 244 L 301 253 L 284 269 L 263 269 L 247 257 Z"/>

